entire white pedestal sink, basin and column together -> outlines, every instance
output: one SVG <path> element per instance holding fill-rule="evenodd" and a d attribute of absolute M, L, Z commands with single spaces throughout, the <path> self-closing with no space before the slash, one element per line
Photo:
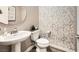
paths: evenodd
<path fill-rule="evenodd" d="M 0 45 L 12 45 L 12 51 L 21 51 L 21 42 L 31 35 L 30 31 L 18 31 L 14 34 L 0 36 Z"/>

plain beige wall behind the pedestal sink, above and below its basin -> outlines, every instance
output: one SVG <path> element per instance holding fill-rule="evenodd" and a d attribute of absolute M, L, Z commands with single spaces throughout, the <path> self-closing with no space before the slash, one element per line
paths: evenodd
<path fill-rule="evenodd" d="M 26 11 L 25 11 L 26 8 Z M 27 13 L 27 18 L 25 19 L 24 23 L 22 23 L 23 17 L 25 14 L 21 14 L 21 10 Z M 6 26 L 7 31 L 13 30 L 13 28 L 17 27 L 17 30 L 30 30 L 32 25 L 38 25 L 39 23 L 39 17 L 38 17 L 38 7 L 33 7 L 33 6 L 27 6 L 24 7 L 24 9 L 21 9 L 21 7 L 16 7 L 16 22 L 18 26 L 16 25 L 3 25 L 0 23 L 0 28 L 3 30 L 3 28 Z M 28 46 L 31 45 L 30 40 L 26 40 L 22 42 L 22 51 L 24 51 Z M 1 48 L 3 47 L 3 48 Z M 4 51 L 10 51 L 10 46 L 1 46 L 0 51 L 4 49 Z"/>

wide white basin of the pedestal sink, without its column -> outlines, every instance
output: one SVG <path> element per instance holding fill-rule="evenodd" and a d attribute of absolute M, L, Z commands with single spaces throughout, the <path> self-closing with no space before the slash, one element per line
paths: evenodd
<path fill-rule="evenodd" d="M 1 35 L 0 45 L 11 45 L 26 40 L 31 35 L 30 31 L 18 31 L 14 34 Z"/>

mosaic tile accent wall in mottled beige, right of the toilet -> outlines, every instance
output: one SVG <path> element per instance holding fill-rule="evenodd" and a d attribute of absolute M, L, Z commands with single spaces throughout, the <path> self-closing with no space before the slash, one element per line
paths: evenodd
<path fill-rule="evenodd" d="M 39 28 L 52 32 L 51 44 L 75 50 L 76 7 L 39 7 Z"/>

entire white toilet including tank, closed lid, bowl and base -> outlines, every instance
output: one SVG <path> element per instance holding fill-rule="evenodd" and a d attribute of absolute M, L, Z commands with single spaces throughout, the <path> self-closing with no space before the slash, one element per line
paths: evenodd
<path fill-rule="evenodd" d="M 46 52 L 49 41 L 46 38 L 39 38 L 40 30 L 35 30 L 31 34 L 32 41 L 36 44 L 36 52 Z"/>

